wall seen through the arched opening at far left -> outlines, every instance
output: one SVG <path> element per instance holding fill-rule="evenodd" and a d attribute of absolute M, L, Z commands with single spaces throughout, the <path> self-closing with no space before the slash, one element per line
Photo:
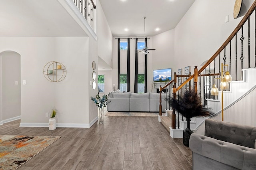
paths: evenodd
<path fill-rule="evenodd" d="M 0 54 L 2 59 L 2 120 L 20 116 L 20 55 L 13 51 Z M 15 84 L 18 81 L 18 84 Z"/>

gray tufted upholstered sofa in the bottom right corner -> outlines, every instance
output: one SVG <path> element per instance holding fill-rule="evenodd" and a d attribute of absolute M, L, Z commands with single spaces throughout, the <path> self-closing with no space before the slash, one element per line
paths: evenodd
<path fill-rule="evenodd" d="M 256 170 L 256 127 L 206 119 L 205 136 L 192 134 L 194 170 Z"/>

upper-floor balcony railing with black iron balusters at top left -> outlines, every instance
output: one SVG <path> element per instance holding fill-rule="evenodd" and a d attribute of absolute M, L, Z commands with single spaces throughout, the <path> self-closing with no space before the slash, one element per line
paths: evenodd
<path fill-rule="evenodd" d="M 78 10 L 80 10 L 88 24 L 92 27 L 92 30 L 94 30 L 94 10 L 96 9 L 94 2 L 92 0 L 73 0 L 73 2 L 76 4 Z"/>

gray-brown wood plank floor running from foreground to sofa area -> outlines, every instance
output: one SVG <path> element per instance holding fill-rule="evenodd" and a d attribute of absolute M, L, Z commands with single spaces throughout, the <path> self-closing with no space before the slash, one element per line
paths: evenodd
<path fill-rule="evenodd" d="M 91 128 L 0 126 L 3 135 L 62 136 L 18 170 L 191 170 L 192 152 L 158 117 L 104 117 Z"/>

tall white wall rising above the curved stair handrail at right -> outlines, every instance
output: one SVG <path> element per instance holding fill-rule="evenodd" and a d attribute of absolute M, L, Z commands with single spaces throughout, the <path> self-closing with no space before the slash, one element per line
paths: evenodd
<path fill-rule="evenodd" d="M 196 0 L 175 28 L 176 69 L 201 65 L 221 45 L 221 26 L 233 18 L 234 0 Z"/>

